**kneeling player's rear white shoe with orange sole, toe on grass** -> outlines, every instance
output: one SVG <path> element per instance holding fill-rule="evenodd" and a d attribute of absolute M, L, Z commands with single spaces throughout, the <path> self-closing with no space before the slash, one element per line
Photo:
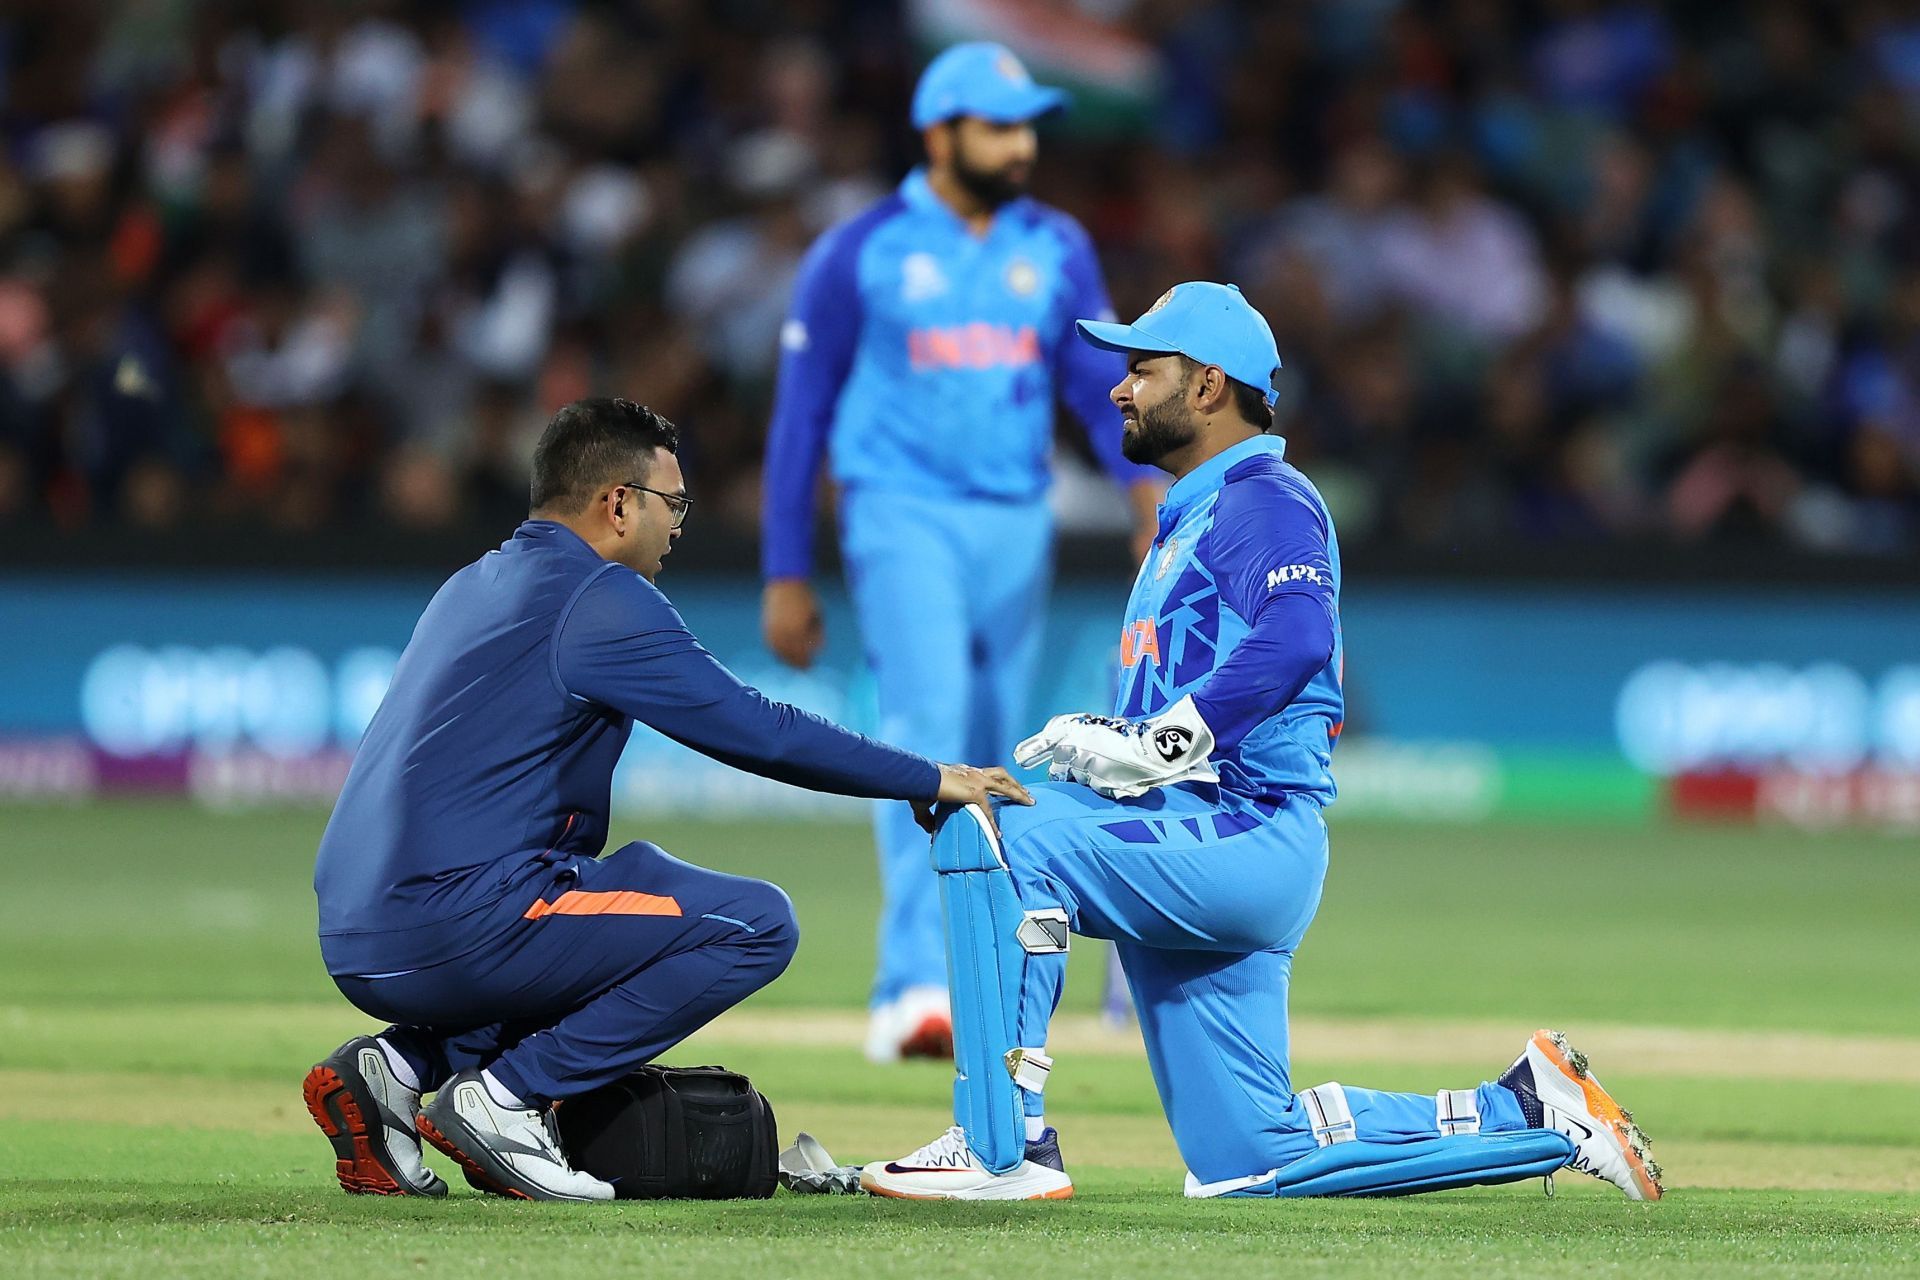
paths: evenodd
<path fill-rule="evenodd" d="M 1526 1052 L 1500 1077 L 1534 1128 L 1574 1142 L 1567 1169 L 1613 1182 L 1628 1199 L 1659 1199 L 1661 1167 L 1632 1113 L 1586 1069 L 1586 1054 L 1557 1031 L 1536 1031 Z"/>

